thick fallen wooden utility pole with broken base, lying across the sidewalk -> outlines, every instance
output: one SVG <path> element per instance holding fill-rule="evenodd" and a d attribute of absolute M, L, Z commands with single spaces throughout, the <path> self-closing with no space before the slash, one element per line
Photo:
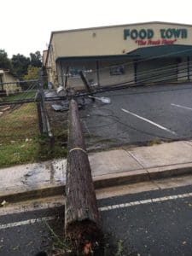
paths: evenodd
<path fill-rule="evenodd" d="M 79 108 L 73 99 L 69 104 L 68 121 L 65 230 L 76 252 L 84 255 L 94 251 L 94 247 L 99 247 L 102 230 L 90 162 L 79 120 Z"/>

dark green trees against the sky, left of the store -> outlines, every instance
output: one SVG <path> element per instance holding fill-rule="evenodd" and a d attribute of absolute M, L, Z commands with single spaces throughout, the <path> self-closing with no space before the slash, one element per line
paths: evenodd
<path fill-rule="evenodd" d="M 33 67 L 42 67 L 42 56 L 39 51 L 30 53 L 30 57 L 17 54 L 9 59 L 7 52 L 0 49 L 0 68 L 9 69 L 18 79 L 22 80 L 31 76 L 37 78 L 38 69 Z"/>

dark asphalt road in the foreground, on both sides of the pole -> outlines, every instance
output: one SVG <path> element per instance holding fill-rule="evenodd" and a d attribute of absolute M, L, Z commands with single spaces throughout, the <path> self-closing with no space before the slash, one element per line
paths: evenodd
<path fill-rule="evenodd" d="M 192 255 L 192 185 L 110 197 L 98 207 L 104 256 Z M 0 255 L 49 251 L 55 236 L 41 218 L 62 236 L 63 216 L 64 207 L 0 216 Z"/>

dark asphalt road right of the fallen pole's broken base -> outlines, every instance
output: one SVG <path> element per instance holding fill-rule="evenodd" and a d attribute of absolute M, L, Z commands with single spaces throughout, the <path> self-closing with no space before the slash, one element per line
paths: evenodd
<path fill-rule="evenodd" d="M 191 191 L 187 186 L 99 201 L 100 207 L 112 207 L 102 212 L 102 219 L 113 251 L 121 247 L 121 256 L 192 255 L 192 196 L 187 197 Z"/>

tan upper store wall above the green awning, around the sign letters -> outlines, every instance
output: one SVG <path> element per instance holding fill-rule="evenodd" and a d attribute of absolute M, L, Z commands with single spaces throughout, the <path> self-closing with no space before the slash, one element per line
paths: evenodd
<path fill-rule="evenodd" d="M 150 39 L 145 38 L 143 41 L 147 41 L 146 44 L 138 45 L 139 42 L 137 40 L 141 38 L 138 36 L 136 39 L 132 39 L 131 37 L 126 37 L 125 39 L 125 29 L 129 29 L 130 32 L 133 30 L 137 30 L 137 32 L 141 32 L 141 30 L 147 32 L 148 30 L 153 30 L 154 37 Z M 161 38 L 160 30 L 166 30 L 165 32 L 161 31 L 162 36 L 170 36 L 171 32 L 167 31 L 169 29 L 175 29 L 172 32 L 172 37 Z M 182 38 L 182 30 L 186 30 L 187 38 Z M 178 38 L 175 38 L 176 34 Z M 160 44 L 171 44 L 168 41 L 176 40 L 174 44 L 191 45 L 192 26 L 154 22 L 53 32 L 50 44 L 55 48 L 55 59 L 57 59 L 60 56 L 122 55 L 138 47 L 155 46 L 158 40 L 160 40 Z"/>

